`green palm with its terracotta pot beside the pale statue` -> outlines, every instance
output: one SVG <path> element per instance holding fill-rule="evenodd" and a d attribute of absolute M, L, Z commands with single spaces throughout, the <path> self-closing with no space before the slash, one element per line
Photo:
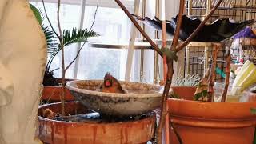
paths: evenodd
<path fill-rule="evenodd" d="M 42 26 L 42 30 L 46 36 L 47 41 L 47 54 L 48 61 L 46 63 L 46 71 L 43 78 L 43 90 L 42 90 L 42 100 L 44 102 L 60 102 L 60 96 L 62 95 L 62 79 L 54 78 L 54 70 L 58 70 L 58 68 L 54 70 L 50 70 L 51 64 L 56 57 L 57 54 L 62 50 L 59 43 L 56 42 L 56 33 L 52 30 L 52 28 L 43 25 L 44 15 L 42 14 L 42 10 L 36 8 L 32 4 L 30 4 L 31 10 L 34 12 L 34 15 L 38 19 L 38 22 Z M 62 39 L 63 46 L 70 46 L 74 43 L 84 42 L 86 43 L 87 38 L 98 36 L 94 32 L 94 30 L 82 29 L 78 30 L 73 28 L 73 30 L 63 30 L 62 31 Z M 84 46 L 84 45 L 83 45 Z M 82 46 L 82 47 L 83 47 Z M 82 50 L 82 47 L 80 50 Z M 80 52 L 79 50 L 79 52 Z M 78 54 L 79 54 L 78 52 Z M 74 57 L 74 60 L 70 62 L 69 66 L 73 64 L 73 62 L 78 58 L 78 54 Z M 69 67 L 68 66 L 68 67 Z M 66 79 L 66 81 L 70 81 L 71 79 Z M 69 90 L 66 90 L 66 101 L 73 101 L 74 97 L 70 94 Z"/>

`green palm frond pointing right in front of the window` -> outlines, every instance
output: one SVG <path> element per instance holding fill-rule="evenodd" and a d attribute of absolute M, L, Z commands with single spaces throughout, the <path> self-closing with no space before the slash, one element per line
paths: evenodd
<path fill-rule="evenodd" d="M 86 42 L 87 38 L 99 36 L 94 30 L 77 30 L 73 28 L 72 32 L 70 30 L 63 30 L 63 45 L 68 46 L 77 42 Z"/>

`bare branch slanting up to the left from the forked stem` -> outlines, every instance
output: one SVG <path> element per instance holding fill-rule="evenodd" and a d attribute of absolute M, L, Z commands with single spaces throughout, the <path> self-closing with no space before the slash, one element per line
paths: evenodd
<path fill-rule="evenodd" d="M 150 42 L 150 45 L 153 46 L 154 50 L 156 50 L 158 52 L 158 54 L 160 54 L 162 56 L 162 51 L 158 48 L 158 45 L 156 45 L 152 39 L 146 34 L 146 32 L 144 30 L 142 30 L 142 27 L 139 26 L 138 22 L 134 19 L 134 17 L 130 14 L 129 10 L 126 9 L 125 6 L 123 6 L 122 2 L 120 2 L 119 0 L 114 0 L 115 2 L 117 2 L 118 6 L 120 6 L 122 8 L 122 10 L 126 13 L 126 15 L 128 16 L 128 18 L 130 18 L 130 21 L 134 23 L 134 26 L 138 29 L 139 32 L 141 32 L 141 34 L 143 35 L 144 38 L 146 38 L 147 42 Z"/>

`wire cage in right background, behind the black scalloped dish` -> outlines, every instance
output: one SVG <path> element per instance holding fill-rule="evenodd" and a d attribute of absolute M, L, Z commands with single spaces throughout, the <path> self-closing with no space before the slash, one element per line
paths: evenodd
<path fill-rule="evenodd" d="M 186 13 L 191 18 L 205 18 L 210 9 L 216 5 L 218 0 L 187 0 Z M 256 19 L 256 0 L 223 0 L 218 9 L 214 12 L 209 22 L 214 22 L 216 19 L 230 18 L 230 22 L 242 22 L 250 19 Z M 251 33 L 255 33 L 255 37 L 235 38 L 232 45 L 230 39 L 223 43 L 223 49 L 218 52 L 217 67 L 221 71 L 225 71 L 226 62 L 224 61 L 224 54 L 226 46 L 231 48 L 231 56 L 233 62 L 239 62 L 242 59 L 244 62 L 256 63 L 256 26 L 250 26 Z M 202 76 L 206 67 L 210 65 L 211 48 L 206 46 L 190 45 L 186 48 L 186 72 L 190 74 L 199 74 Z M 222 81 L 223 78 L 217 75 L 217 80 Z"/>

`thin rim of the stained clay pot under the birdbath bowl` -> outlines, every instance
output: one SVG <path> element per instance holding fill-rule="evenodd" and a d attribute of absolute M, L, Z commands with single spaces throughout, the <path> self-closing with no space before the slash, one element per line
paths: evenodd
<path fill-rule="evenodd" d="M 74 103 L 74 102 L 65 102 L 65 103 Z M 78 102 L 75 102 L 75 103 L 78 103 Z M 38 107 L 38 110 L 39 109 L 43 109 L 43 108 L 46 108 L 47 106 L 52 106 L 52 105 L 60 105 L 61 102 L 54 102 L 54 103 L 49 103 L 49 104 L 44 104 L 42 106 L 39 106 Z M 43 118 L 42 116 L 39 116 L 38 115 L 38 119 L 41 120 L 41 121 L 45 121 L 45 122 L 53 122 L 53 123 L 62 123 L 63 125 L 70 125 L 70 124 L 73 124 L 73 125 L 87 125 L 87 126 L 112 126 L 112 125 L 123 125 L 123 124 L 128 124 L 130 122 L 133 122 L 133 123 L 140 123 L 140 122 L 145 122 L 147 120 L 151 120 L 151 119 L 154 119 L 156 117 L 156 114 L 154 112 L 152 112 L 152 115 L 150 115 L 149 117 L 146 117 L 146 118 L 142 118 L 142 119 L 139 119 L 139 120 L 134 120 L 134 121 L 126 121 L 126 122 L 111 122 L 111 123 L 89 123 L 89 122 L 66 122 L 66 121 L 58 121 L 58 120 L 53 120 L 53 119 L 50 119 L 50 118 Z"/>

